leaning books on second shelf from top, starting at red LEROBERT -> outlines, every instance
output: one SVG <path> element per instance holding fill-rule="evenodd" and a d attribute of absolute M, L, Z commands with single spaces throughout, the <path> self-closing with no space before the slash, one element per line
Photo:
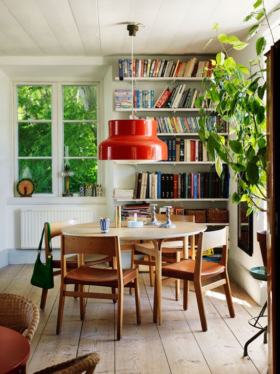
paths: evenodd
<path fill-rule="evenodd" d="M 199 91 L 196 88 L 186 88 L 186 84 L 178 83 L 176 87 L 169 91 L 166 86 L 155 101 L 154 108 L 195 108 L 195 99 L 204 96 L 205 91 Z M 208 108 L 212 106 L 208 99 Z"/>

